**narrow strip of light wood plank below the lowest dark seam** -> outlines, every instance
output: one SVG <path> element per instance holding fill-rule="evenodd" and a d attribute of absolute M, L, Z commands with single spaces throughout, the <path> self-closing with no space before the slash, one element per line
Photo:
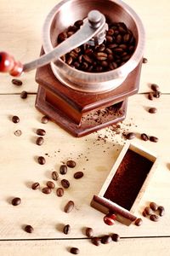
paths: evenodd
<path fill-rule="evenodd" d="M 54 256 L 71 255 L 71 247 L 78 247 L 82 256 L 95 255 L 118 255 L 118 256 L 169 256 L 170 238 L 148 238 L 148 239 L 122 239 L 111 244 L 94 246 L 88 240 L 56 240 L 56 241 L 1 241 L 0 253 L 5 256 L 18 255 L 41 255 Z"/>

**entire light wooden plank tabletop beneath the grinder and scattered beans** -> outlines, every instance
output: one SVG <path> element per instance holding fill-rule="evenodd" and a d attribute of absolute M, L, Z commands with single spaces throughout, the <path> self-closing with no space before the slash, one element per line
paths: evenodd
<path fill-rule="evenodd" d="M 43 20 L 57 3 L 55 0 L 0 0 L 0 50 L 8 51 L 22 62 L 31 61 L 39 55 L 42 44 Z M 25 74 L 20 87 L 11 83 L 11 77 L 0 74 L 0 254 L 5 255 L 69 255 L 70 247 L 79 247 L 80 255 L 169 255 L 170 241 L 170 2 L 127 0 L 141 17 L 146 30 L 144 56 L 139 94 L 128 100 L 127 118 L 120 124 L 120 134 L 106 128 L 87 137 L 71 137 L 53 122 L 43 125 L 42 113 L 34 107 L 37 94 L 35 71 Z M 159 84 L 161 97 L 154 101 L 147 98 L 150 84 Z M 29 92 L 26 100 L 20 92 Z M 157 113 L 148 109 L 156 107 Z M 11 121 L 13 115 L 20 123 Z M 39 147 L 35 141 L 37 128 L 47 131 L 45 143 Z M 21 130 L 16 137 L 14 131 Z M 90 207 L 94 194 L 98 194 L 105 178 L 111 171 L 125 139 L 122 132 L 133 131 L 137 137 L 133 142 L 161 156 L 160 165 L 151 179 L 135 214 L 143 218 L 140 227 L 129 227 L 116 222 L 107 226 L 103 213 Z M 158 143 L 144 142 L 141 133 L 159 138 Z M 98 137 L 107 137 L 105 140 Z M 37 156 L 44 155 L 46 164 L 37 164 Z M 66 178 L 71 188 L 59 198 L 53 192 L 44 195 L 31 189 L 37 181 L 44 186 L 51 179 L 51 172 L 59 171 L 62 162 L 76 160 L 77 166 L 70 169 Z M 84 172 L 81 180 L 73 173 Z M 61 178 L 61 177 L 60 177 Z M 56 183 L 59 187 L 59 182 Z M 19 196 L 22 203 L 11 205 L 11 199 Z M 65 203 L 75 201 L 75 209 L 63 211 Z M 156 201 L 166 209 L 165 216 L 155 223 L 144 218 L 142 212 L 150 201 Z M 34 227 L 28 234 L 26 224 Z M 62 232 L 64 224 L 71 225 L 71 233 Z M 95 247 L 84 234 L 86 227 L 94 229 L 94 236 L 111 232 L 121 236 L 119 242 Z"/>

